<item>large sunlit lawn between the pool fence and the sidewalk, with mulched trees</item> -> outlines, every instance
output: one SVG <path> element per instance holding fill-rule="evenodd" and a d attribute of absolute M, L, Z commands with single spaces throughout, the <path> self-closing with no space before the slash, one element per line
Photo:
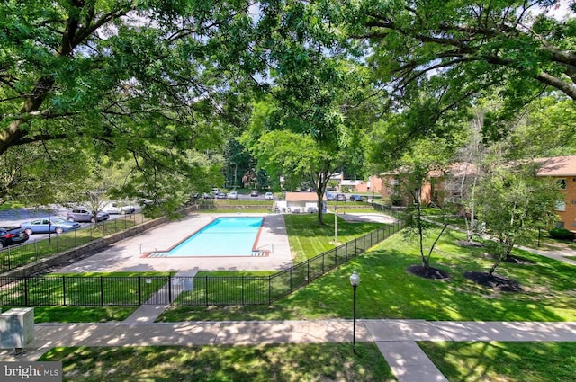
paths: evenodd
<path fill-rule="evenodd" d="M 418 248 L 402 234 L 393 235 L 351 262 L 272 306 L 173 306 L 160 321 L 351 318 L 349 276 L 358 271 L 357 315 L 360 318 L 576 321 L 576 267 L 515 250 L 527 264 L 503 262 L 497 274 L 518 280 L 521 292 L 488 289 L 464 278 L 465 271 L 488 271 L 485 248 L 463 247 L 463 234 L 447 231 L 431 265 L 447 271 L 448 280 L 428 280 L 407 272 L 419 264 Z M 428 244 L 431 243 L 428 239 Z"/>

